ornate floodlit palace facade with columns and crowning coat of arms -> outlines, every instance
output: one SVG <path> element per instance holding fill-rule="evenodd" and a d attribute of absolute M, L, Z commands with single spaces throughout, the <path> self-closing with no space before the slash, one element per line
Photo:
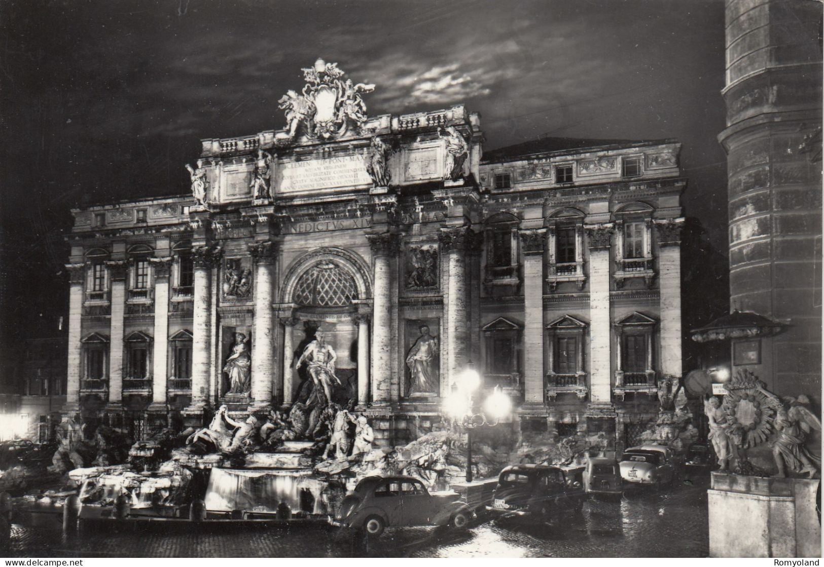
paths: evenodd
<path fill-rule="evenodd" d="M 287 128 L 203 140 L 192 195 L 73 210 L 66 411 L 146 435 L 305 402 L 321 333 L 382 444 L 468 365 L 522 430 L 633 443 L 682 372 L 680 144 L 483 153 L 463 106 L 367 117 L 373 86 L 304 72 Z"/>

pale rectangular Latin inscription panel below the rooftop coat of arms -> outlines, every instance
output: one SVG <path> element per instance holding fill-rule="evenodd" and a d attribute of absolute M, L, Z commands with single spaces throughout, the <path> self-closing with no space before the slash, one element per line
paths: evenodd
<path fill-rule="evenodd" d="M 279 164 L 278 190 L 282 193 L 371 184 L 363 156 L 322 160 L 288 161 Z"/>

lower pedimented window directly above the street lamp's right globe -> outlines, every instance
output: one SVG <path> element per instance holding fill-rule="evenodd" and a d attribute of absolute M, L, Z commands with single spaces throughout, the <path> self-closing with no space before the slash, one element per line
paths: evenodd
<path fill-rule="evenodd" d="M 520 393 L 522 327 L 499 317 L 481 328 L 484 333 L 484 380 L 487 388 L 501 386 Z"/>

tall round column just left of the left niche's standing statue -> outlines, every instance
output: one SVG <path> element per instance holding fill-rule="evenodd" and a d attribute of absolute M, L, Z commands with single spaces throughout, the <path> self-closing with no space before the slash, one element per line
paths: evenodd
<path fill-rule="evenodd" d="M 212 267 L 218 254 L 208 246 L 192 249 L 194 260 L 194 312 L 192 314 L 192 401 L 190 412 L 202 411 L 208 402 L 209 355 L 212 334 Z"/>

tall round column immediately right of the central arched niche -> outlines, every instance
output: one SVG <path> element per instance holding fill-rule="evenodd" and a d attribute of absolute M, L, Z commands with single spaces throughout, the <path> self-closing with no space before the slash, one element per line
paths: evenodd
<path fill-rule="evenodd" d="M 391 400 L 392 388 L 392 312 L 389 297 L 391 289 L 391 261 L 400 253 L 398 235 L 385 232 L 367 235 L 374 257 L 374 303 L 372 317 L 372 402 L 386 405 Z"/>

